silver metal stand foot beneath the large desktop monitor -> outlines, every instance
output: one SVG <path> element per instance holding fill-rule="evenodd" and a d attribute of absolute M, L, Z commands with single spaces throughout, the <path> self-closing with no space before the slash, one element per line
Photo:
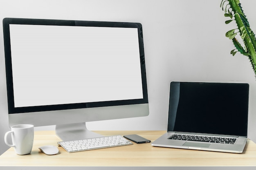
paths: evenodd
<path fill-rule="evenodd" d="M 56 132 L 56 135 L 62 141 L 74 141 L 74 140 L 82 140 L 82 139 L 89 139 L 89 138 L 95 138 L 95 137 L 103 137 L 103 135 L 99 135 L 95 132 L 88 130 L 86 128 L 85 122 L 75 123 L 75 124 L 56 125 L 55 132 Z"/>

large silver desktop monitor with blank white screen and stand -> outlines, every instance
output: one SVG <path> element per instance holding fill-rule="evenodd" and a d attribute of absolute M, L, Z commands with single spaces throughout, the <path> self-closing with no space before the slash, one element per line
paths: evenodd
<path fill-rule="evenodd" d="M 3 31 L 9 126 L 74 140 L 98 136 L 86 121 L 149 114 L 140 23 L 4 18 Z"/>

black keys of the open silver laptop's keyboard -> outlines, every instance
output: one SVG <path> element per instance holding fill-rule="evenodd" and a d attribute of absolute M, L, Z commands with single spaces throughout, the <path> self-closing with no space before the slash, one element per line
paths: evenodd
<path fill-rule="evenodd" d="M 236 138 L 180 135 L 180 134 L 173 134 L 168 139 L 184 140 L 184 141 L 202 141 L 202 142 L 222 143 L 222 144 L 234 144 L 236 142 Z"/>

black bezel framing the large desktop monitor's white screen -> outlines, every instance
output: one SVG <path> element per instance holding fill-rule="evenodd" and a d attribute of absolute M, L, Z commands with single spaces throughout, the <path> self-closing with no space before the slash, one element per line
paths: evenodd
<path fill-rule="evenodd" d="M 143 88 L 143 99 L 129 99 L 129 100 L 118 100 L 118 101 L 106 101 L 106 102 L 88 102 L 88 103 L 76 103 L 76 104 L 57 104 L 57 105 L 47 105 L 47 106 L 14 107 L 13 77 L 12 77 L 12 64 L 11 64 L 11 42 L 10 42 L 9 24 L 137 28 L 138 39 L 139 39 L 139 53 L 140 53 L 140 60 L 141 60 L 141 79 L 142 79 L 142 88 Z M 106 21 L 4 18 L 3 19 L 3 33 L 4 33 L 4 53 L 5 53 L 7 100 L 8 100 L 9 114 L 148 103 L 148 92 L 147 92 L 147 83 L 146 83 L 146 66 L 145 66 L 145 58 L 144 58 L 144 42 L 143 42 L 143 34 L 142 34 L 142 25 L 140 23 L 137 23 L 137 22 L 106 22 Z"/>

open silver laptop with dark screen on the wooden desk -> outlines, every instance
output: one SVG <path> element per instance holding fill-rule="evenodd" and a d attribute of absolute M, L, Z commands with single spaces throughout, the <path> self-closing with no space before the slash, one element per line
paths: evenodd
<path fill-rule="evenodd" d="M 171 82 L 167 132 L 152 146 L 242 153 L 249 84 Z"/>

